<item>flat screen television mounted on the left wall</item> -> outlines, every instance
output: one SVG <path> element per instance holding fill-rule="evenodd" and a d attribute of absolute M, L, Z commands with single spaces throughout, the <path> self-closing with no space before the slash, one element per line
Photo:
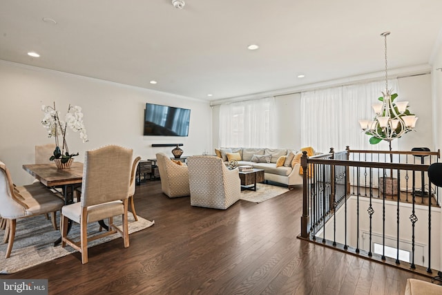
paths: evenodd
<path fill-rule="evenodd" d="M 188 136 L 191 110 L 146 104 L 144 135 Z"/>

